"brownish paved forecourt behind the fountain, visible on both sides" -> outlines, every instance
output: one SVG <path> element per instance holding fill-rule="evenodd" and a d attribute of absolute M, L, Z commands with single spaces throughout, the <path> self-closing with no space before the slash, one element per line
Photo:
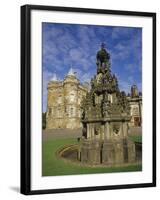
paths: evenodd
<path fill-rule="evenodd" d="M 129 130 L 129 135 L 141 135 L 141 127 L 132 127 Z M 56 138 L 78 138 L 82 135 L 82 129 L 52 129 L 52 130 L 43 130 L 43 141 L 52 140 Z"/>

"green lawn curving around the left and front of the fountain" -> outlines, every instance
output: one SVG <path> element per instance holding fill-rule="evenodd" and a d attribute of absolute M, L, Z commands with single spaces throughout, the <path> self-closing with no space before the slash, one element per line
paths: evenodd
<path fill-rule="evenodd" d="M 42 153 L 42 176 L 57 176 L 57 175 L 73 175 L 73 174 L 94 174 L 108 172 L 128 172 L 140 171 L 142 166 L 127 166 L 127 167 L 86 167 L 75 163 L 68 162 L 56 155 L 56 152 L 68 145 L 77 144 L 76 139 L 55 139 L 52 141 L 43 142 Z"/>

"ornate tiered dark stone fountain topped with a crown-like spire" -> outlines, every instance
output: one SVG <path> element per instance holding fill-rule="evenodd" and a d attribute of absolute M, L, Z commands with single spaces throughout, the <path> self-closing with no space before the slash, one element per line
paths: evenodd
<path fill-rule="evenodd" d="M 134 163 L 135 144 L 128 137 L 129 103 L 111 72 L 110 54 L 104 44 L 96 58 L 97 74 L 91 79 L 91 90 L 81 106 L 79 159 L 90 165 Z"/>

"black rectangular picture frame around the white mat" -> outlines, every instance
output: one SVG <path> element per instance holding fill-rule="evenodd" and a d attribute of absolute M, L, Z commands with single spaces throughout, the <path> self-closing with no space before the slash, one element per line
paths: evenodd
<path fill-rule="evenodd" d="M 49 190 L 31 190 L 31 11 L 65 11 L 80 13 L 97 13 L 112 14 L 126 16 L 142 16 L 152 17 L 152 47 L 153 47 L 153 158 L 152 158 L 152 182 L 142 184 L 125 184 L 113 186 L 94 186 L 94 187 L 77 187 L 77 188 L 61 188 Z M 20 192 L 26 195 L 33 194 L 50 194 L 50 193 L 66 193 L 66 192 L 82 192 L 96 190 L 111 189 L 128 189 L 128 188 L 144 188 L 156 186 L 156 13 L 137 12 L 137 11 L 121 11 L 121 10 L 104 10 L 90 8 L 72 8 L 57 7 L 43 5 L 24 5 L 21 6 L 21 188 Z"/>

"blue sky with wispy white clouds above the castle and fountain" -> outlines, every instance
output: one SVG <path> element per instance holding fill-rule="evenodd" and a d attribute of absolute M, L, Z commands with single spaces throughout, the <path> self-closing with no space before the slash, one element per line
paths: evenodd
<path fill-rule="evenodd" d="M 47 105 L 47 84 L 53 73 L 60 80 L 70 67 L 81 82 L 96 74 L 96 53 L 104 42 L 111 55 L 111 70 L 119 87 L 142 90 L 142 29 L 135 27 L 42 23 L 43 111 Z"/>

